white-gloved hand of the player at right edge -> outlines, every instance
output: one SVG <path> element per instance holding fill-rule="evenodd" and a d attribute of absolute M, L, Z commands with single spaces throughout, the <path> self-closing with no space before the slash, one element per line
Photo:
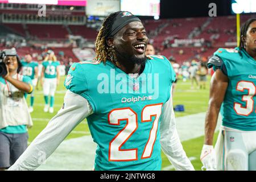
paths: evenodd
<path fill-rule="evenodd" d="M 206 169 L 207 171 L 216 171 L 216 153 L 213 146 L 204 144 L 201 156 L 201 162 L 203 163 L 202 170 Z"/>

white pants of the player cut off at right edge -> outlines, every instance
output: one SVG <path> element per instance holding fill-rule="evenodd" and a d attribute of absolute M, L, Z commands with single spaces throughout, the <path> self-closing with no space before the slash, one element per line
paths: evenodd
<path fill-rule="evenodd" d="M 221 126 L 215 145 L 217 170 L 256 170 L 256 131 Z"/>

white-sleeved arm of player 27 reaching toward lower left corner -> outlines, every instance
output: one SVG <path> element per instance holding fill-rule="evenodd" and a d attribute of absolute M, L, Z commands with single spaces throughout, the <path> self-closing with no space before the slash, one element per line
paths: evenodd
<path fill-rule="evenodd" d="M 34 170 L 39 167 L 65 137 L 92 113 L 92 107 L 84 97 L 68 90 L 64 97 L 63 108 L 49 121 L 46 128 L 9 170 Z"/>

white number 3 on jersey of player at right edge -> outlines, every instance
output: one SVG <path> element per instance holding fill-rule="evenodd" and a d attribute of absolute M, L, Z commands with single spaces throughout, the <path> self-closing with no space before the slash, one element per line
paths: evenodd
<path fill-rule="evenodd" d="M 256 86 L 251 81 L 240 81 L 237 83 L 236 90 L 238 90 L 240 92 L 244 92 L 245 89 L 248 90 L 248 94 L 246 94 L 245 96 L 242 96 L 242 101 L 246 102 L 246 106 L 243 107 L 242 104 L 235 102 L 234 110 L 239 115 L 247 116 L 247 115 L 253 113 L 253 106 L 254 106 L 253 97 L 256 94 Z"/>

